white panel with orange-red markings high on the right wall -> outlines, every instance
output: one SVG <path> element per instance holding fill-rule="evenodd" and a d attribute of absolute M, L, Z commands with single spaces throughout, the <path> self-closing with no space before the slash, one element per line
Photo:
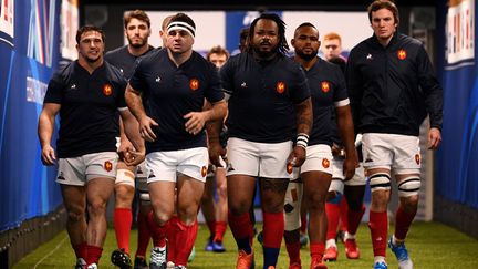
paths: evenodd
<path fill-rule="evenodd" d="M 475 0 L 450 0 L 446 27 L 448 64 L 475 59 Z M 463 65 L 459 64 L 459 65 Z"/>

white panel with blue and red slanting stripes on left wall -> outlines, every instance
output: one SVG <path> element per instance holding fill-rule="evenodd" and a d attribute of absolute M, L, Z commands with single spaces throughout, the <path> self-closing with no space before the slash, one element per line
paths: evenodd
<path fill-rule="evenodd" d="M 56 1 L 31 0 L 31 7 L 27 56 L 51 68 Z"/>

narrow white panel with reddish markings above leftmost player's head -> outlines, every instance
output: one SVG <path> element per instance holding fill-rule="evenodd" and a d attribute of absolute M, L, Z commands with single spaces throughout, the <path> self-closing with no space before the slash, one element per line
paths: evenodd
<path fill-rule="evenodd" d="M 74 0 L 62 0 L 61 10 L 61 54 L 64 59 L 75 60 L 76 31 L 79 29 L 79 8 Z"/>

